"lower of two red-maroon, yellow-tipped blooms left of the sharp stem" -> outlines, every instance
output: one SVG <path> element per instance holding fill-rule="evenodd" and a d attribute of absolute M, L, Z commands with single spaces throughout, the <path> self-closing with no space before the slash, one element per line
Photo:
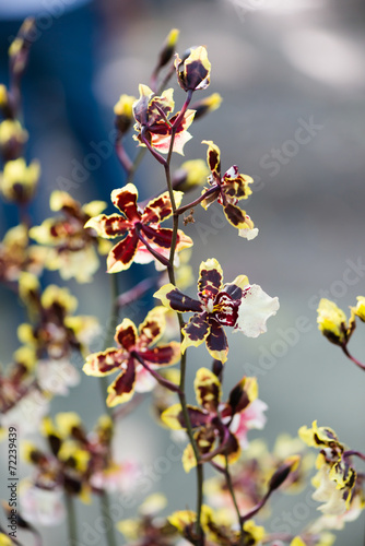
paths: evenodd
<path fill-rule="evenodd" d="M 127 402 L 134 390 L 152 390 L 155 381 L 149 371 L 160 366 L 175 364 L 180 356 L 180 344 L 170 342 L 155 345 L 162 337 L 166 321 L 166 309 L 155 307 L 140 324 L 139 329 L 129 319 L 117 327 L 115 341 L 120 348 L 108 348 L 93 353 L 86 358 L 83 371 L 87 376 L 102 377 L 119 371 L 108 388 L 107 405 L 115 406 Z M 151 380 L 150 380 L 151 379 Z"/>

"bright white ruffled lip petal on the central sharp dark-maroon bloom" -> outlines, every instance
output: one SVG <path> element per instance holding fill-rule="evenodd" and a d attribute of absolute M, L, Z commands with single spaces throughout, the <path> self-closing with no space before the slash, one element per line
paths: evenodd
<path fill-rule="evenodd" d="M 276 314 L 279 299 L 270 297 L 258 284 L 244 290 L 238 308 L 235 331 L 240 330 L 247 337 L 257 337 L 267 331 L 267 320 Z"/>

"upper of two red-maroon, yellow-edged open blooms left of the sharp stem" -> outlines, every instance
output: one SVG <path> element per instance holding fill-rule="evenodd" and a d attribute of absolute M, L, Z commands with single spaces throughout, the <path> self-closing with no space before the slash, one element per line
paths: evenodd
<path fill-rule="evenodd" d="M 181 202 L 182 192 L 174 192 L 177 206 Z M 128 183 L 111 192 L 111 201 L 120 214 L 107 216 L 99 214 L 86 222 L 85 227 L 95 229 L 98 236 L 106 239 L 123 237 L 109 251 L 107 258 L 108 273 L 117 273 L 130 268 L 132 262 L 148 263 L 160 257 L 167 263 L 173 230 L 160 227 L 160 223 L 172 216 L 173 207 L 168 192 L 152 199 L 143 211 L 137 204 L 138 190 Z M 192 240 L 180 229 L 177 234 L 176 251 L 191 247 Z M 150 257 L 145 249 L 150 251 Z M 166 263 L 164 263 L 166 265 Z"/>

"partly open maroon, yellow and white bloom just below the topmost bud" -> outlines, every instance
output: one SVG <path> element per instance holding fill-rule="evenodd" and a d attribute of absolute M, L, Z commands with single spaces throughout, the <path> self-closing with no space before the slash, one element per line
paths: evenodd
<path fill-rule="evenodd" d="M 169 118 L 174 110 L 174 90 L 169 88 L 157 96 L 148 85 L 140 85 L 140 98 L 133 104 L 133 116 L 137 121 L 133 135 L 140 145 L 145 142 L 162 154 L 169 151 L 172 129 L 174 127 L 175 138 L 173 151 L 184 155 L 184 145 L 191 139 L 187 129 L 192 123 L 195 110 L 186 110 Z M 182 114 L 182 112 L 181 112 Z M 177 123 L 177 124 L 176 124 Z"/>

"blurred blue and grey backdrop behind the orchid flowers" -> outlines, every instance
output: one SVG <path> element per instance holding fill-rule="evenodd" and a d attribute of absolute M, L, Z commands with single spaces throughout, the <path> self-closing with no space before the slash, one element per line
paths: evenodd
<path fill-rule="evenodd" d="M 24 14 L 14 13 L 10 4 L 5 0 L 0 8 L 3 80 L 9 37 Z M 225 393 L 244 373 L 258 377 L 259 396 L 269 406 L 268 422 L 262 434 L 252 431 L 249 438 L 263 436 L 270 447 L 280 432 L 296 435 L 302 425 L 317 419 L 352 449 L 364 450 L 364 373 L 320 335 L 316 324 L 320 297 L 337 301 L 348 312 L 356 296 L 365 295 L 363 2 L 106 0 L 71 5 L 60 0 L 45 5 L 42 13 L 48 13 L 48 19 L 38 15 L 39 39 L 32 48 L 24 81 L 27 153 L 43 166 L 34 223 L 50 215 L 48 201 L 55 189 L 68 190 L 85 202 L 108 200 L 111 189 L 125 183 L 111 152 L 105 152 L 97 166 L 87 159 L 98 153 L 97 143 L 110 142 L 113 106 L 121 93 L 138 95 L 138 84 L 149 83 L 170 28 L 180 29 L 180 54 L 192 45 L 205 45 L 212 78 L 201 96 L 219 92 L 223 103 L 192 126 L 193 139 L 185 146 L 184 161 L 204 158 L 205 146 L 200 143 L 213 140 L 221 149 L 223 173 L 236 164 L 250 175 L 254 193 L 244 204 L 260 233 L 246 241 L 222 222 L 217 207 L 207 213 L 197 209 L 196 223 L 185 228 L 195 240 L 195 274 L 202 259 L 215 257 L 225 281 L 247 274 L 251 283 L 279 296 L 281 304 L 268 333 L 259 339 L 228 334 Z M 176 87 L 177 108 L 184 98 Z M 180 157 L 174 157 L 174 167 L 180 163 Z M 163 171 L 145 156 L 136 180 L 146 198 L 162 187 Z M 1 209 L 1 236 L 17 223 L 14 214 L 11 207 Z M 136 271 L 133 277 L 143 274 L 142 266 Z M 57 275 L 52 281 L 64 284 Z M 126 281 L 121 277 L 126 287 L 131 282 L 128 274 Z M 98 314 L 106 323 L 109 278 L 104 264 L 94 285 L 70 282 L 69 286 L 80 298 L 80 313 Z M 17 347 L 16 305 L 1 289 L 2 364 Z M 363 328 L 358 325 L 350 344 L 362 361 Z M 190 384 L 198 367 L 210 365 L 203 347 L 191 349 Z M 82 377 L 68 399 L 55 400 L 52 410 L 75 410 L 92 426 L 103 407 L 96 382 Z M 191 392 L 189 396 L 192 401 Z M 166 454 L 170 439 L 148 411 L 149 400 L 121 423 L 116 448 L 120 456 L 153 465 Z M 170 462 L 168 472 L 157 473 L 153 490 L 167 495 L 169 510 L 191 508 L 195 475 L 185 476 L 180 463 Z M 279 514 L 284 507 L 279 499 Z M 78 510 L 83 524 L 92 521 L 93 510 L 97 514 L 94 507 Z M 43 533 L 45 544 L 50 544 L 50 537 L 55 546 L 64 544 L 62 526 L 57 533 L 47 529 Z M 335 544 L 363 543 L 360 519 L 338 534 Z M 83 544 L 93 543 L 90 538 Z"/>

